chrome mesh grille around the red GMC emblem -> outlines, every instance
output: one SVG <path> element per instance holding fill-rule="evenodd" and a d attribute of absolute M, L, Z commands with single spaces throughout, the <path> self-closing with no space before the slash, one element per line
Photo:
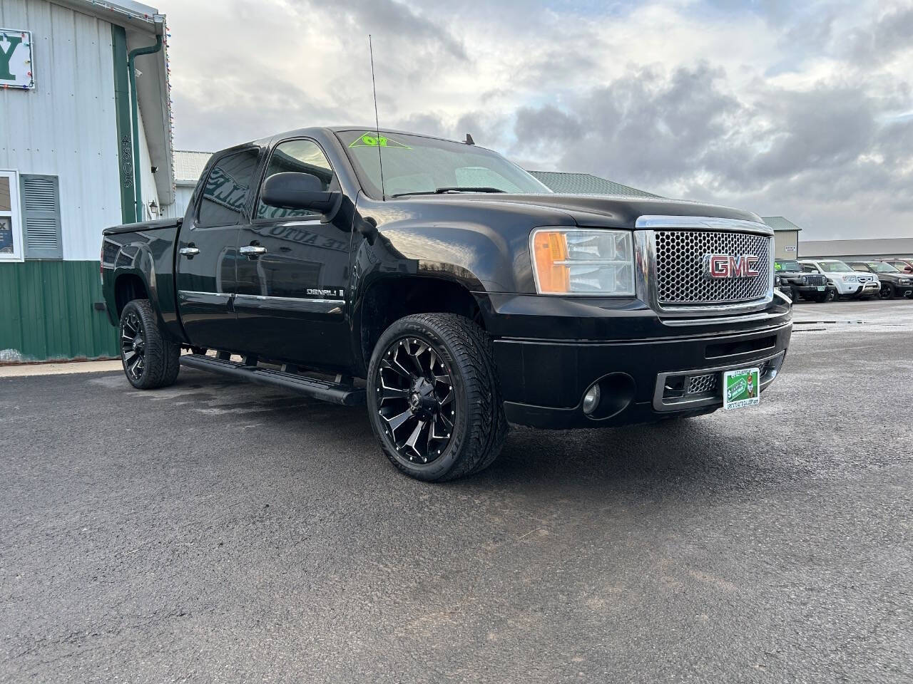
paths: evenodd
<path fill-rule="evenodd" d="M 661 305 L 712 305 L 762 299 L 771 288 L 771 241 L 768 235 L 726 231 L 657 230 L 656 295 Z M 753 254 L 760 275 L 709 278 L 706 254 Z"/>

